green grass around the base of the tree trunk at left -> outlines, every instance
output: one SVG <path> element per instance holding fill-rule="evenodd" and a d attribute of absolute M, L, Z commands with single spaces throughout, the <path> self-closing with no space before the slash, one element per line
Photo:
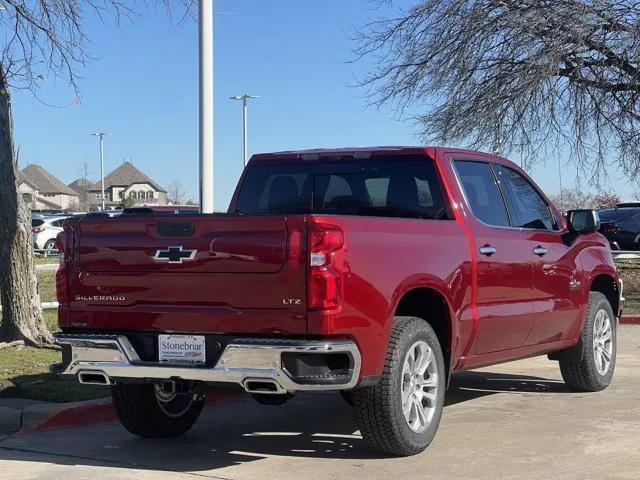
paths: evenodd
<path fill-rule="evenodd" d="M 58 330 L 57 310 L 45 310 L 49 330 Z M 49 373 L 49 366 L 62 361 L 58 350 L 33 347 L 0 350 L 0 398 L 20 397 L 49 402 L 76 402 L 109 395 L 102 387 L 80 385 Z"/>

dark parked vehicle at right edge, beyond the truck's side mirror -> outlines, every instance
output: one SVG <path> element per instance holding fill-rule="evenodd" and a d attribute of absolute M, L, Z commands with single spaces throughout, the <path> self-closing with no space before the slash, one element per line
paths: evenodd
<path fill-rule="evenodd" d="M 640 250 L 640 208 L 598 210 L 600 233 L 614 250 Z"/>

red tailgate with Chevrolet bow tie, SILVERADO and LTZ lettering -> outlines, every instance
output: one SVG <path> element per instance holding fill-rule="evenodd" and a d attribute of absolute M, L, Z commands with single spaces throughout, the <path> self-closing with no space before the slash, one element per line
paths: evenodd
<path fill-rule="evenodd" d="M 83 219 L 69 327 L 306 333 L 303 216 Z"/>

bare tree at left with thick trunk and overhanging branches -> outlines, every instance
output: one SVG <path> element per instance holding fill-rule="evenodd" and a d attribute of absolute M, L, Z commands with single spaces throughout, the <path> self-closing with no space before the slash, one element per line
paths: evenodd
<path fill-rule="evenodd" d="M 37 94 L 55 76 L 78 95 L 78 70 L 89 60 L 85 20 L 115 21 L 136 15 L 147 3 L 188 15 L 196 0 L 1 0 L 0 1 L 0 342 L 24 340 L 50 345 L 33 264 L 28 206 L 17 191 L 17 161 L 11 119 L 11 90 Z"/>

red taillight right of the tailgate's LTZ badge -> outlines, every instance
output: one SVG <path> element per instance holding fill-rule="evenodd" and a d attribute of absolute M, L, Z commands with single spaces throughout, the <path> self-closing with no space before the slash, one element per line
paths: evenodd
<path fill-rule="evenodd" d="M 340 306 L 342 275 L 335 261 L 335 253 L 343 247 L 342 230 L 309 230 L 309 309 L 335 310 Z"/>

